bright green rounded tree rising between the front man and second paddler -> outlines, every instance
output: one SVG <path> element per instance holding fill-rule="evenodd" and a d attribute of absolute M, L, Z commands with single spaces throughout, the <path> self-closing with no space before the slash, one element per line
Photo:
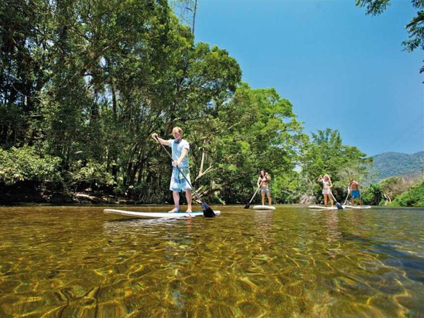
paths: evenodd
<path fill-rule="evenodd" d="M 259 171 L 266 169 L 275 180 L 273 197 L 280 201 L 284 176 L 305 140 L 290 101 L 273 88 L 243 83 L 231 99 L 216 101 L 208 112 L 200 122 L 189 122 L 194 180 L 201 181 L 202 193 L 227 203 L 245 202 Z"/>

